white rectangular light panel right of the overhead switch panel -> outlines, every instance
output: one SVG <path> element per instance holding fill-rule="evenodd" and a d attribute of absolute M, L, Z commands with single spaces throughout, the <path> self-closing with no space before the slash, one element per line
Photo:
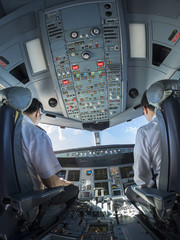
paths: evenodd
<path fill-rule="evenodd" d="M 146 27 L 144 23 L 129 24 L 130 57 L 146 58 Z"/>

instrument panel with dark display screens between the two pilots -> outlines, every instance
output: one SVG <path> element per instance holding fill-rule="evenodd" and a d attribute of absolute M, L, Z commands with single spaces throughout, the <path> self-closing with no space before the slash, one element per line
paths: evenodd
<path fill-rule="evenodd" d="M 71 181 L 79 187 L 79 199 L 91 200 L 101 197 L 112 198 L 124 196 L 124 184 L 133 182 L 132 164 L 94 168 L 62 168 L 58 176 Z"/>

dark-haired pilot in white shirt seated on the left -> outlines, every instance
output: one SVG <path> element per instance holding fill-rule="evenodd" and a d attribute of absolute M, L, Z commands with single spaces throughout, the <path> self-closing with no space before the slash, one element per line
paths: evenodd
<path fill-rule="evenodd" d="M 22 150 L 29 175 L 34 190 L 40 190 L 44 186 L 47 188 L 64 186 L 63 192 L 51 199 L 51 204 L 58 205 L 62 202 L 71 204 L 77 198 L 79 189 L 56 175 L 61 170 L 60 163 L 53 152 L 50 138 L 37 126 L 42 108 L 42 103 L 33 98 L 31 106 L 24 112 L 22 122 Z"/>

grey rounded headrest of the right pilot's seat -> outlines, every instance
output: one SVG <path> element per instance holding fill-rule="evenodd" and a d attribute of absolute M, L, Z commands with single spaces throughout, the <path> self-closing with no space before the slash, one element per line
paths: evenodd
<path fill-rule="evenodd" d="M 179 80 L 161 80 L 152 84 L 147 90 L 146 97 L 152 106 L 159 108 L 162 102 L 173 92 L 180 92 Z"/>

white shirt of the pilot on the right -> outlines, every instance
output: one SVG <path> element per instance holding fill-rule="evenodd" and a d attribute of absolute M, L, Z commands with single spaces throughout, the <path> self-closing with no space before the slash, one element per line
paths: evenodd
<path fill-rule="evenodd" d="M 137 185 L 152 187 L 151 167 L 158 174 L 156 179 L 159 185 L 159 171 L 161 162 L 161 133 L 156 115 L 151 122 L 137 131 L 134 147 L 134 181 Z"/>

